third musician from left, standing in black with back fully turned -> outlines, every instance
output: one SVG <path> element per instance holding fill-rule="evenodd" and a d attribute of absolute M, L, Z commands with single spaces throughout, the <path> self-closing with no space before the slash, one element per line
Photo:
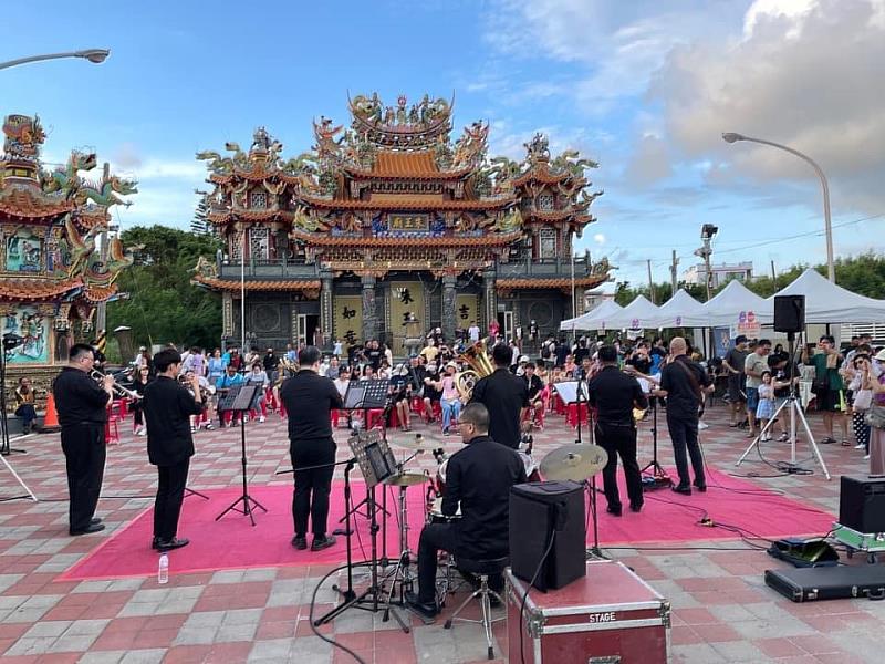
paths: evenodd
<path fill-rule="evenodd" d="M 299 372 L 280 388 L 280 401 L 289 414 L 289 455 L 295 471 L 292 546 L 299 551 L 308 548 L 309 517 L 313 530 L 311 551 L 322 551 L 335 543 L 335 538 L 326 535 L 335 463 L 331 412 L 343 408 L 344 402 L 335 383 L 320 375 L 320 357 L 316 346 L 303 347 L 299 353 Z M 308 466 L 312 468 L 299 470 Z"/>

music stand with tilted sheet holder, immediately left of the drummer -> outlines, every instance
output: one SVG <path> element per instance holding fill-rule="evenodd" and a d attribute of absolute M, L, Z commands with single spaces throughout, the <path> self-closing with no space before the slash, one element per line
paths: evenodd
<path fill-rule="evenodd" d="M 386 381 L 384 381 L 386 383 Z M 347 609 L 361 609 L 363 611 L 371 611 L 372 613 L 377 613 L 382 606 L 382 593 L 383 589 L 378 584 L 378 521 L 377 521 L 377 509 L 378 506 L 375 502 L 375 487 L 384 481 L 387 477 L 394 475 L 396 473 L 396 458 L 394 454 L 391 452 L 389 446 L 387 445 L 387 440 L 384 438 L 382 432 L 378 430 L 369 430 L 369 432 L 360 432 L 354 433 L 348 440 L 347 444 L 351 446 L 351 450 L 353 452 L 354 458 L 356 458 L 356 464 L 360 466 L 360 470 L 363 473 L 363 477 L 365 478 L 366 483 L 366 508 L 368 510 L 368 518 L 369 518 L 369 540 L 372 542 L 372 560 L 371 560 L 371 574 L 372 580 L 369 587 L 363 592 L 361 595 L 356 595 L 353 592 L 353 569 L 351 562 L 351 527 L 350 527 L 350 519 L 347 522 L 347 590 L 342 590 L 337 587 L 334 588 L 336 592 L 342 595 L 344 602 L 332 609 L 329 613 L 319 618 L 313 622 L 314 626 L 320 626 L 327 622 L 331 622 L 336 616 L 342 614 Z M 393 611 L 389 605 L 384 606 L 384 610 L 389 610 L 396 622 L 399 623 L 399 626 L 403 629 L 405 633 L 408 634 L 409 626 L 403 621 L 402 616 Z"/>

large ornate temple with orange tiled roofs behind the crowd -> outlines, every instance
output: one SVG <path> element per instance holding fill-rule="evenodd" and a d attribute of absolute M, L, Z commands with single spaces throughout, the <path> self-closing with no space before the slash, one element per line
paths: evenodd
<path fill-rule="evenodd" d="M 378 339 L 404 351 L 410 328 L 447 339 L 472 321 L 501 333 L 559 329 L 607 262 L 570 260 L 594 221 L 574 151 L 551 157 L 538 134 L 525 158 L 490 158 L 489 126 L 451 138 L 452 104 L 425 95 L 385 106 L 350 100 L 350 128 L 314 121 L 316 143 L 294 158 L 260 127 L 251 147 L 204 152 L 208 219 L 227 251 L 195 282 L 222 293 L 223 335 L 266 347 Z M 412 324 L 409 322 L 412 321 Z"/>

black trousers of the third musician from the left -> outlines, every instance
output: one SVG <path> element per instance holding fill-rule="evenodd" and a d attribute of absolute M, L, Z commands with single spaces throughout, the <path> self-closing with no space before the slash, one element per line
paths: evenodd
<path fill-rule="evenodd" d="M 295 469 L 295 492 L 292 496 L 292 519 L 295 536 L 308 535 L 310 517 L 314 538 L 325 537 L 329 520 L 329 494 L 332 489 L 333 466 L 299 470 L 299 467 L 335 463 L 335 442 L 332 438 L 292 440 L 289 447 L 292 468 Z"/>

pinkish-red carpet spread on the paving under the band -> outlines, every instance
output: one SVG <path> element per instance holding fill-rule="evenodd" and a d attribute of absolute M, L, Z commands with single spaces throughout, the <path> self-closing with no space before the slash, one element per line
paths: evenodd
<path fill-rule="evenodd" d="M 598 485 L 602 486 L 601 479 Z M 752 494 L 739 494 L 729 489 Z M 181 537 L 190 538 L 191 543 L 169 553 L 169 569 L 173 574 L 256 567 L 337 564 L 346 560 L 344 537 L 339 537 L 334 547 L 317 553 L 292 548 L 290 486 L 250 488 L 251 495 L 268 509 L 267 513 L 257 510 L 254 528 L 248 517 L 233 511 L 228 512 L 220 521 L 215 520 L 240 495 L 239 489 L 205 492 L 210 500 L 202 500 L 197 496 L 185 500 L 178 531 Z M 364 485 L 354 483 L 355 501 L 362 500 L 364 496 Z M 622 500 L 626 508 L 626 490 L 623 487 Z M 423 489 L 408 489 L 412 528 L 409 542 L 413 550 L 417 549 L 418 535 L 424 523 L 423 501 Z M 646 494 L 646 505 L 641 513 L 626 510 L 622 518 L 605 513 L 605 498 L 600 494 L 600 543 L 603 548 L 641 542 L 667 543 L 739 537 L 733 530 L 697 525 L 705 510 L 717 525 L 741 528 L 748 533 L 762 537 L 823 535 L 830 530 L 834 520 L 826 512 L 716 471 L 709 477 L 707 494 L 695 492 L 688 497 L 674 494 L 669 489 L 649 492 Z M 388 556 L 393 558 L 399 550 L 393 491 L 388 497 Z M 343 515 L 343 483 L 335 483 L 332 487 L 330 529 L 337 527 L 337 520 Z M 360 537 L 354 536 L 353 539 L 354 559 L 363 560 L 371 556 L 368 523 L 362 517 L 357 517 L 355 522 Z M 152 528 L 153 516 L 148 509 L 64 572 L 59 580 L 119 579 L 155 574 L 157 553 L 150 549 Z M 587 529 L 587 540 L 592 540 L 592 537 L 591 526 Z M 381 536 L 378 549 L 381 556 Z"/>

